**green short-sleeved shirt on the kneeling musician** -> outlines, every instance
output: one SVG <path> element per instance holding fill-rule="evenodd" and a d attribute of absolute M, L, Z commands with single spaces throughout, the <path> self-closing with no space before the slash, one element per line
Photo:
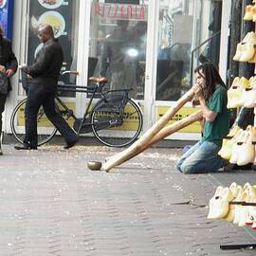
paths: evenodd
<path fill-rule="evenodd" d="M 223 137 L 229 132 L 230 113 L 227 103 L 227 89 L 218 85 L 207 104 L 209 110 L 217 113 L 217 116 L 213 121 L 205 122 L 203 140 L 221 146 Z"/>

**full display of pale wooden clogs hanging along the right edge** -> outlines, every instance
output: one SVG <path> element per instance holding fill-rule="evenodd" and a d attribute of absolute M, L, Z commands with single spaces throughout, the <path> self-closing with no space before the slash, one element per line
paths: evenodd
<path fill-rule="evenodd" d="M 256 0 L 246 7 L 245 22 L 256 24 Z M 255 25 L 256 28 L 256 25 Z M 233 60 L 256 64 L 256 29 L 249 31 L 237 45 Z M 256 115 L 256 65 L 254 76 L 249 79 L 236 77 L 228 90 L 228 108 L 254 108 Z M 229 135 L 223 139 L 218 153 L 231 164 L 238 166 L 252 163 L 256 165 L 256 119 L 254 125 L 246 129 L 234 125 Z M 229 188 L 219 186 L 210 199 L 209 219 L 223 219 L 238 227 L 256 230 L 256 185 L 246 183 L 244 186 L 232 183 Z M 256 244 L 222 245 L 221 249 L 256 248 Z"/>

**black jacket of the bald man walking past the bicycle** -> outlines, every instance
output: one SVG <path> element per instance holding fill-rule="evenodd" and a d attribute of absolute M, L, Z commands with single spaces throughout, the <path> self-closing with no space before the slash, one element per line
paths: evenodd
<path fill-rule="evenodd" d="M 57 39 L 50 39 L 37 53 L 34 63 L 24 70 L 33 78 L 33 83 L 44 84 L 47 91 L 55 91 L 63 61 L 62 46 Z"/>

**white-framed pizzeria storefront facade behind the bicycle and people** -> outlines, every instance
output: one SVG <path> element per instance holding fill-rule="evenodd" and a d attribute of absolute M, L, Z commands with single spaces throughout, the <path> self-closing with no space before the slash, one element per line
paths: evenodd
<path fill-rule="evenodd" d="M 19 64 L 32 63 L 42 47 L 37 29 L 50 24 L 64 47 L 63 71 L 78 71 L 78 75 L 61 76 L 60 81 L 86 85 L 89 76 L 105 75 L 110 88 L 115 80 L 119 88 L 132 87 L 132 96 L 143 111 L 144 131 L 189 90 L 192 69 L 197 64 L 213 62 L 219 66 L 223 79 L 227 78 L 229 0 L 14 0 L 13 3 L 11 40 Z M 26 98 L 19 78 L 19 72 L 12 78 L 13 90 L 4 117 L 8 134 L 11 112 Z M 88 102 L 86 95 L 72 92 L 62 97 L 78 117 L 82 116 Z M 170 123 L 195 111 L 188 102 Z M 17 126 L 24 132 L 23 119 L 17 120 Z M 200 125 L 194 123 L 168 138 L 199 137 Z"/>

